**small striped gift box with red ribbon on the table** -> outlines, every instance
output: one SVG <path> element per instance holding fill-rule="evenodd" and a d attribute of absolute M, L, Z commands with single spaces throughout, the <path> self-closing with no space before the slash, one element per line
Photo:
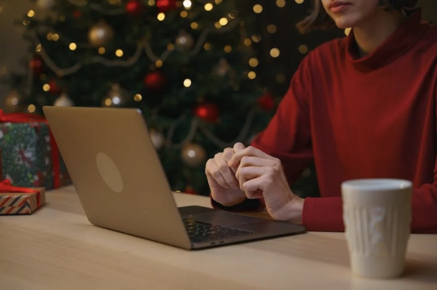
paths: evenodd
<path fill-rule="evenodd" d="M 0 214 L 30 214 L 46 203 L 44 188 L 11 186 L 10 180 L 0 183 Z"/>

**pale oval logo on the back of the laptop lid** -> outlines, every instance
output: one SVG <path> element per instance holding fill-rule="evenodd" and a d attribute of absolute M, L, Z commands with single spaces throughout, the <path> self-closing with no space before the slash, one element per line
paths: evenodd
<path fill-rule="evenodd" d="M 103 179 L 103 182 L 112 190 L 117 193 L 123 190 L 123 179 L 121 177 L 120 170 L 111 157 L 107 156 L 103 152 L 97 153 L 96 165 Z"/>

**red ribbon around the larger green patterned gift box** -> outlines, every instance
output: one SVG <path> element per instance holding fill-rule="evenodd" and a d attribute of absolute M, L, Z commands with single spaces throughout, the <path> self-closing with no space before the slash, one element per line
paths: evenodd
<path fill-rule="evenodd" d="M 0 123 L 11 122 L 11 123 L 31 123 L 31 122 L 41 122 L 49 125 L 46 118 L 40 115 L 27 114 L 27 113 L 12 113 L 5 114 L 2 109 L 0 109 Z M 52 160 L 53 160 L 53 188 L 58 188 L 61 184 L 60 182 L 60 164 L 59 164 L 59 151 L 58 146 L 53 137 L 52 130 L 50 130 L 50 147 L 52 148 Z M 0 163 L 0 167 L 1 167 Z M 1 177 L 1 175 L 0 175 Z"/>

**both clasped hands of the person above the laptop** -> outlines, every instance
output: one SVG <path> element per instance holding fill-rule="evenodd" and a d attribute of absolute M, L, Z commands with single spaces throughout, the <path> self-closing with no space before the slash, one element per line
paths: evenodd
<path fill-rule="evenodd" d="M 302 223 L 304 199 L 290 189 L 278 158 L 238 142 L 209 159 L 205 173 L 216 202 L 233 206 L 246 198 L 264 198 L 274 220 Z"/>

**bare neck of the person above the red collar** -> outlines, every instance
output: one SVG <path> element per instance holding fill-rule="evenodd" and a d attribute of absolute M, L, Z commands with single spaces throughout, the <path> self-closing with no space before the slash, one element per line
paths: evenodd
<path fill-rule="evenodd" d="M 403 12 L 381 10 L 372 19 L 353 27 L 360 56 L 374 52 L 406 18 Z"/>

